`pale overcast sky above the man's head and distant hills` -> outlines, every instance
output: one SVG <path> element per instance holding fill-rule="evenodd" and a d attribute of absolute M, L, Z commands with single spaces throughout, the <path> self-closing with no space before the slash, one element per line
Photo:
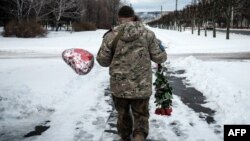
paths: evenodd
<path fill-rule="evenodd" d="M 132 4 L 136 12 L 144 11 L 163 11 L 175 10 L 176 0 L 125 0 L 126 3 Z M 182 9 L 185 5 L 190 4 L 192 0 L 178 0 L 178 8 Z"/>

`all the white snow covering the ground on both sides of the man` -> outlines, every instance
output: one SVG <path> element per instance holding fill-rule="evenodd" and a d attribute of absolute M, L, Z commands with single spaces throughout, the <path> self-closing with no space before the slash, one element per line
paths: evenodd
<path fill-rule="evenodd" d="M 151 29 L 168 47 L 170 55 L 250 51 L 250 36 L 232 34 L 231 40 L 225 40 L 224 33 L 218 33 L 214 39 L 211 33 L 203 37 L 188 31 Z M 0 37 L 1 141 L 99 140 L 109 116 L 107 111 L 111 110 L 106 102 L 109 97 L 104 96 L 109 83 L 108 68 L 95 63 L 88 75 L 78 76 L 60 56 L 68 48 L 84 48 L 96 55 L 105 32 L 50 32 L 46 38 L 35 39 Z M 53 57 L 36 57 L 48 54 Z M 207 124 L 178 96 L 173 99 L 172 116 L 155 115 L 152 96 L 150 139 L 222 141 L 224 124 L 250 123 L 249 60 L 206 61 L 187 56 L 171 58 L 166 65 L 173 70 L 185 70 L 179 77 L 186 77 L 185 83 L 206 96 L 204 106 L 216 111 L 216 123 Z M 40 136 L 23 138 L 37 125 L 50 128 Z"/>

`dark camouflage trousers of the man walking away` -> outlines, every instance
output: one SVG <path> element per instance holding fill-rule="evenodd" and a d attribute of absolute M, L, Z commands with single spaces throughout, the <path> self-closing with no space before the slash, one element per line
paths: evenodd
<path fill-rule="evenodd" d="M 121 138 L 141 135 L 145 139 L 149 130 L 149 98 L 124 99 L 113 96 L 113 102 L 118 112 L 117 130 Z M 132 114 L 131 114 L 132 113 Z"/>

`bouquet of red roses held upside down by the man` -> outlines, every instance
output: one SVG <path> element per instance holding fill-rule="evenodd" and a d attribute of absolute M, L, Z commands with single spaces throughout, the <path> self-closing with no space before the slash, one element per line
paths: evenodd
<path fill-rule="evenodd" d="M 158 64 L 157 71 L 155 73 L 156 80 L 153 83 L 155 86 L 155 103 L 157 115 L 170 116 L 172 113 L 172 87 L 170 87 L 166 78 L 166 72 L 164 72 L 161 64 Z"/>

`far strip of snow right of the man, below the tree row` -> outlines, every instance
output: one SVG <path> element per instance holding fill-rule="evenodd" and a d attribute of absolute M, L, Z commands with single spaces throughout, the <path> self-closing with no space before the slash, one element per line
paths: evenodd
<path fill-rule="evenodd" d="M 250 36 L 246 35 L 231 34 L 231 39 L 226 40 L 225 33 L 220 32 L 217 32 L 217 38 L 213 38 L 211 31 L 208 31 L 208 37 L 204 37 L 203 32 L 197 36 L 197 31 L 192 35 L 190 30 L 182 33 L 161 29 L 154 31 L 169 47 L 166 50 L 169 54 L 250 52 Z"/>

